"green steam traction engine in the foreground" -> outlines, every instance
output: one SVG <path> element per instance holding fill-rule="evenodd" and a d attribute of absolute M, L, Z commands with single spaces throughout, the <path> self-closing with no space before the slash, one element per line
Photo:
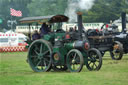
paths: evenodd
<path fill-rule="evenodd" d="M 50 23 L 65 21 L 68 21 L 68 17 L 64 15 L 52 16 L 48 20 Z M 102 56 L 99 50 L 90 48 L 88 40 L 85 40 L 82 34 L 82 14 L 78 13 L 77 31 L 65 32 L 58 28 L 33 41 L 29 46 L 27 58 L 32 70 L 80 72 L 84 65 L 90 71 L 99 70 L 102 66 Z"/>

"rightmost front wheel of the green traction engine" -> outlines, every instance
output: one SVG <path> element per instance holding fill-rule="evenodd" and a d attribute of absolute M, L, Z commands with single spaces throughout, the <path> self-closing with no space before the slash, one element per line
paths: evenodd
<path fill-rule="evenodd" d="M 88 70 L 99 70 L 102 66 L 102 55 L 99 50 L 91 48 L 88 51 L 88 61 L 86 67 Z"/>

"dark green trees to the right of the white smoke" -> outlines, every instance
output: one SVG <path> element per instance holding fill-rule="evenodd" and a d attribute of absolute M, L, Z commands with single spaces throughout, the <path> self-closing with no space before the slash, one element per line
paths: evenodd
<path fill-rule="evenodd" d="M 109 22 L 120 17 L 121 12 L 128 12 L 128 0 L 95 0 L 95 4 L 84 12 L 85 22 Z"/>

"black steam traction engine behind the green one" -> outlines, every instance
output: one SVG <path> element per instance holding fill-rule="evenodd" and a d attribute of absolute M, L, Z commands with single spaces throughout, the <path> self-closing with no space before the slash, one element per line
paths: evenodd
<path fill-rule="evenodd" d="M 122 59 L 123 54 L 128 53 L 126 13 L 122 13 L 122 32 L 117 31 L 118 28 L 116 25 L 112 25 L 107 29 L 104 29 L 103 26 L 101 27 L 102 31 L 97 29 L 90 29 L 87 31 L 86 34 L 91 47 L 100 50 L 102 56 L 106 51 L 109 51 L 112 59 Z"/>

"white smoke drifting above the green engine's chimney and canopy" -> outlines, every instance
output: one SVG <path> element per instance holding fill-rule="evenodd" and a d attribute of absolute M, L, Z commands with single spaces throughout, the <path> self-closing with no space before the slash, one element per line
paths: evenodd
<path fill-rule="evenodd" d="M 94 1 L 95 0 L 68 0 L 69 4 L 67 9 L 65 10 L 65 15 L 70 18 L 69 22 L 76 22 L 77 10 L 89 10 L 93 6 Z"/>

